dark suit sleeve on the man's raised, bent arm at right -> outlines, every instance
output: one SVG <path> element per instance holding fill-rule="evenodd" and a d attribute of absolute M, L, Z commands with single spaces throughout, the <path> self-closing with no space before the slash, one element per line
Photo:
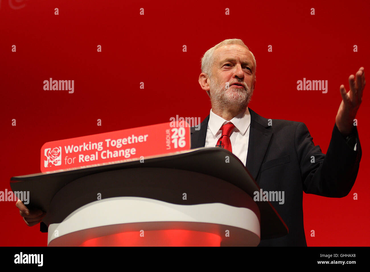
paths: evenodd
<path fill-rule="evenodd" d="M 334 124 L 326 154 L 315 146 L 306 125 L 300 122 L 295 132 L 295 148 L 301 170 L 303 191 L 324 197 L 345 197 L 359 171 L 361 145 L 357 127 L 345 138 Z"/>

